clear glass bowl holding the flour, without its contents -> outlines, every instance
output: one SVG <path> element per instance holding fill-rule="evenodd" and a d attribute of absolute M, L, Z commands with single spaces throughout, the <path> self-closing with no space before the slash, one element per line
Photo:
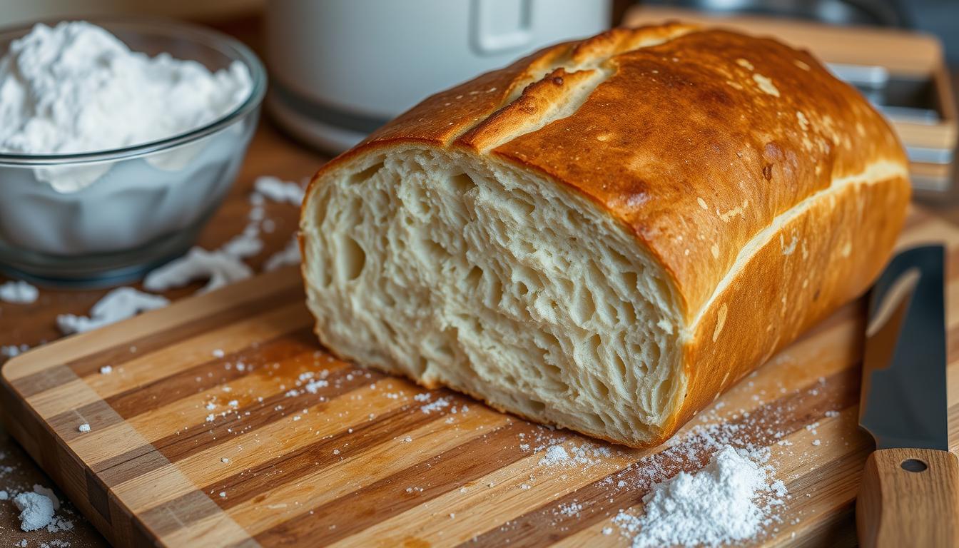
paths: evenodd
<path fill-rule="evenodd" d="M 172 21 L 90 22 L 151 57 L 168 53 L 211 72 L 240 61 L 252 85 L 222 117 L 152 142 L 82 154 L 0 152 L 0 270 L 39 283 L 116 285 L 188 250 L 236 179 L 267 87 L 263 64 L 229 36 Z M 32 28 L 0 32 L 0 57 Z"/>

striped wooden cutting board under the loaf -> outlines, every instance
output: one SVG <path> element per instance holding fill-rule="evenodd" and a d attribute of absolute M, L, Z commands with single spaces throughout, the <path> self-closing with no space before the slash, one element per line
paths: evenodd
<path fill-rule="evenodd" d="M 901 246 L 934 241 L 949 246 L 954 450 L 959 229 L 914 211 Z M 790 493 L 758 544 L 854 543 L 872 449 L 856 428 L 861 301 L 717 400 L 678 445 L 637 451 L 340 362 L 302 300 L 295 270 L 280 271 L 28 352 L 3 369 L 7 428 L 118 546 L 628 546 L 611 518 L 734 431 L 769 447 Z M 583 457 L 547 464 L 553 444 Z"/>

